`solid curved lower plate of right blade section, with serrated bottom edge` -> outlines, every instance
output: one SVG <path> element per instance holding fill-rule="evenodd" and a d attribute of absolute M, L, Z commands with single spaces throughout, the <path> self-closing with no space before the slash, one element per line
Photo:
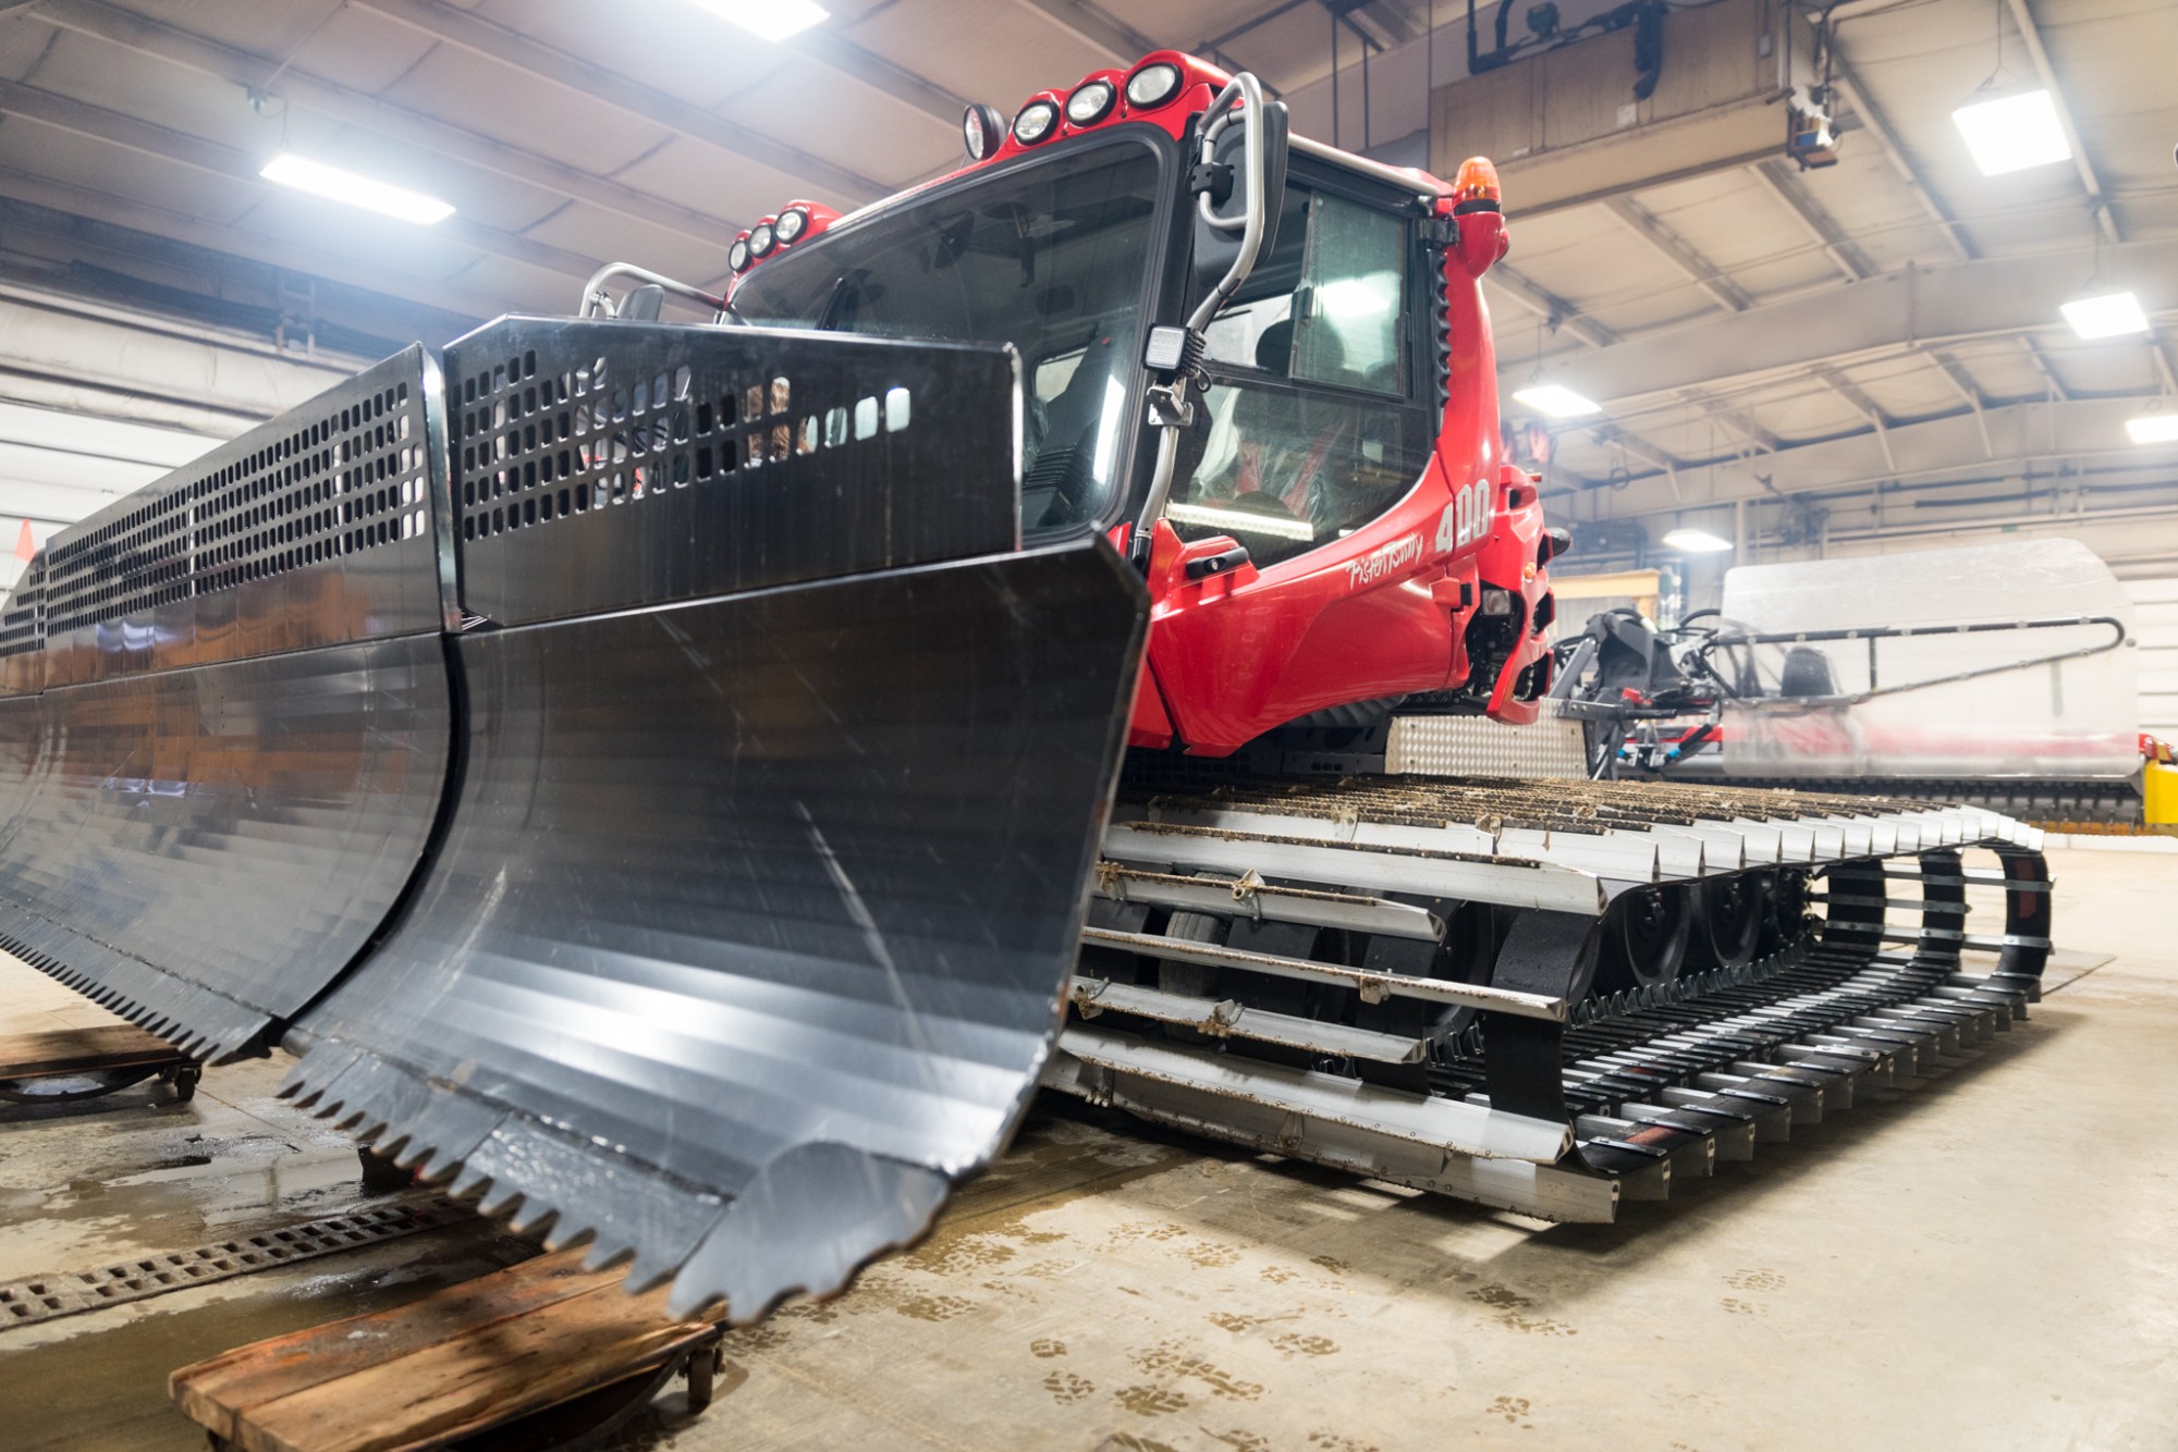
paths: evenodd
<path fill-rule="evenodd" d="M 1137 596 L 1091 542 L 464 638 L 453 829 L 292 1086 L 675 1315 L 839 1289 L 1035 1088 Z"/>

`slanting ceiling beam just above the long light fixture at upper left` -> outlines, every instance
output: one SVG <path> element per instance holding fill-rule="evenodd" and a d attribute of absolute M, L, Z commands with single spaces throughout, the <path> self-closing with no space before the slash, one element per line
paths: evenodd
<path fill-rule="evenodd" d="M 351 91 L 344 85 L 333 85 L 292 65 L 281 65 L 270 57 L 235 50 L 168 22 L 120 11 L 105 4 L 105 0 L 44 0 L 37 20 L 168 61 L 183 70 L 216 76 L 244 89 L 274 94 L 290 104 L 316 111 L 346 126 L 414 146 L 429 146 L 455 161 L 466 161 L 486 172 L 601 207 L 632 222 L 649 222 L 684 237 L 719 244 L 721 250 L 723 239 L 730 239 L 736 231 L 736 224 L 725 218 L 706 216 L 680 202 L 562 165 L 551 157 L 540 157 L 538 152 L 466 131 L 420 111 Z"/>

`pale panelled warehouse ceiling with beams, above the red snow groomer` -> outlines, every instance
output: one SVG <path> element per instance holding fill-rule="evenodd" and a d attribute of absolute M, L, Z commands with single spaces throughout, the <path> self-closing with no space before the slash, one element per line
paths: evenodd
<path fill-rule="evenodd" d="M 335 368 L 499 311 L 568 311 L 601 261 L 717 283 L 734 231 L 788 198 L 856 205 L 950 170 L 967 100 L 1011 113 L 1157 46 L 1255 70 L 1316 131 L 1337 35 L 1348 146 L 1422 126 L 1420 87 L 1405 100 L 1394 76 L 1433 13 L 1433 78 L 1464 70 L 1453 0 L 830 9 L 773 44 L 695 0 L 0 4 L 0 307 L 11 283 L 50 287 L 189 318 L 227 340 L 229 372 Z M 2167 479 L 2169 451 L 2143 455 L 2121 424 L 2178 394 L 2178 7 L 1845 0 L 1830 17 L 1838 165 L 1777 155 L 1625 189 L 1599 159 L 1590 200 L 1522 213 L 1507 196 L 1505 392 L 1557 381 L 1603 405 L 1549 424 L 1559 509 L 1775 509 L 2036 470 L 2134 488 L 2143 459 Z M 1357 102 L 1363 54 L 1379 85 Z M 2071 161 L 1980 174 L 1951 109 L 1993 74 L 2058 98 Z M 283 192 L 257 174 L 279 150 L 460 211 L 418 229 Z M 2117 287 L 2150 335 L 2082 342 L 2056 311 Z M 152 416 L 203 433 L 301 387 L 183 383 Z"/>

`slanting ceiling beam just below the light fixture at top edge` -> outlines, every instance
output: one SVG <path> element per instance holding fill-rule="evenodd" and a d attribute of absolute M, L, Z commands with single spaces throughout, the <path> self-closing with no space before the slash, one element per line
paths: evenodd
<path fill-rule="evenodd" d="M 784 172 L 799 172 L 812 185 L 830 187 L 836 198 L 871 202 L 893 192 L 893 187 L 873 176 L 862 176 L 852 168 L 767 137 L 741 122 L 712 115 L 701 107 L 571 57 L 564 50 L 542 46 L 527 35 L 470 15 L 468 11 L 433 4 L 431 0 L 353 0 L 353 4 L 403 24 L 418 35 L 429 35 L 457 50 L 468 50 L 486 61 L 518 70 L 538 81 L 549 81 L 560 89 L 664 126 L 690 141 L 701 141 L 734 157 L 754 157 Z"/>

